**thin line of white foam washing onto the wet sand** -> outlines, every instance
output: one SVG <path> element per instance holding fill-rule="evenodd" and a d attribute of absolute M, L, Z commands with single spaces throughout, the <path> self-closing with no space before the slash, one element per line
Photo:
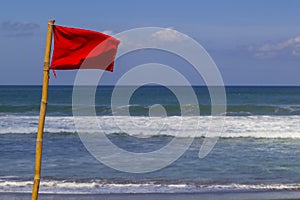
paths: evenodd
<path fill-rule="evenodd" d="M 31 192 L 32 181 L 0 182 L 0 192 Z M 286 184 L 166 184 L 166 183 L 105 183 L 105 182 L 66 182 L 42 181 L 41 193 L 176 193 L 205 192 L 224 190 L 299 190 L 299 183 Z"/>

